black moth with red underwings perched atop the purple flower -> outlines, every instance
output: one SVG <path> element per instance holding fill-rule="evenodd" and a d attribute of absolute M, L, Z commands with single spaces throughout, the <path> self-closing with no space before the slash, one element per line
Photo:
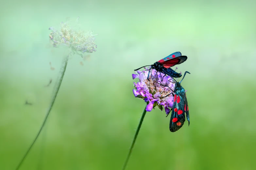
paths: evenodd
<path fill-rule="evenodd" d="M 181 64 L 181 63 L 185 62 L 186 60 L 187 60 L 187 56 L 182 56 L 180 52 L 174 52 L 174 53 L 168 55 L 167 57 L 159 60 L 158 62 L 155 62 L 152 65 L 145 65 L 145 66 L 151 66 L 149 69 L 149 72 L 148 72 L 147 79 L 149 77 L 149 73 L 150 73 L 151 69 L 155 69 L 156 71 L 167 74 L 173 78 L 179 78 L 179 77 L 181 77 L 181 74 L 175 72 L 170 67 L 177 65 L 177 64 Z M 143 66 L 143 67 L 145 67 L 145 66 Z M 140 67 L 134 71 L 137 71 L 141 68 L 142 67 Z"/>

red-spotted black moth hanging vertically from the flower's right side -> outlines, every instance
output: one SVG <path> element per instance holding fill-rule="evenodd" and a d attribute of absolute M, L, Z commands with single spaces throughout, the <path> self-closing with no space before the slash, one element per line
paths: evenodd
<path fill-rule="evenodd" d="M 189 72 L 186 71 L 183 78 L 185 77 L 186 73 Z M 171 132 L 178 131 L 182 127 L 185 122 L 185 112 L 189 125 L 188 101 L 185 89 L 180 85 L 181 81 L 175 83 L 173 107 L 169 126 Z"/>

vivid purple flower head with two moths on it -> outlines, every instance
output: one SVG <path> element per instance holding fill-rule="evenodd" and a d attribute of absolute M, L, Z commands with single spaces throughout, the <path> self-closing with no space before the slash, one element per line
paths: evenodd
<path fill-rule="evenodd" d="M 147 80 L 148 69 L 135 71 L 132 79 L 139 78 L 139 82 L 134 82 L 133 94 L 135 97 L 142 98 L 146 103 L 146 111 L 150 112 L 154 107 L 165 110 L 168 114 L 173 106 L 173 91 L 175 83 L 173 78 L 152 69 Z M 161 78 L 162 77 L 162 78 Z"/>

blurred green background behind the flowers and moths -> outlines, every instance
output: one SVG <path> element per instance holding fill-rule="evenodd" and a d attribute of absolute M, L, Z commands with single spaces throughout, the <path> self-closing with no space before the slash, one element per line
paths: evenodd
<path fill-rule="evenodd" d="M 77 16 L 98 34 L 97 51 L 90 60 L 69 61 L 43 133 L 21 170 L 121 170 L 145 107 L 132 93 L 131 74 L 176 51 L 188 56 L 178 71 L 191 73 L 182 82 L 190 126 L 186 121 L 171 133 L 170 116 L 159 109 L 146 113 L 127 170 L 256 169 L 255 5 L 1 2 L 0 169 L 15 169 L 49 106 L 64 54 L 51 47 L 48 28 Z"/>

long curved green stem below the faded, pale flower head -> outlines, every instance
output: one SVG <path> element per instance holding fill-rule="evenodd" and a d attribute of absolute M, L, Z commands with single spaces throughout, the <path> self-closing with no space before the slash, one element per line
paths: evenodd
<path fill-rule="evenodd" d="M 45 123 L 46 123 L 46 120 L 47 120 L 47 118 L 48 118 L 48 116 L 49 116 L 49 114 L 50 114 L 50 111 L 51 111 L 51 109 L 52 109 L 52 106 L 53 106 L 53 104 L 54 104 L 54 102 L 55 102 L 56 96 L 57 96 L 57 94 L 58 94 L 58 92 L 59 92 L 59 90 L 60 90 L 60 85 L 61 85 L 62 79 L 63 79 L 63 77 L 64 77 L 67 64 L 68 64 L 68 56 L 65 57 L 64 63 L 62 64 L 62 67 L 61 67 L 61 69 L 60 69 L 60 78 L 59 78 L 59 81 L 58 81 L 58 83 L 57 83 L 56 90 L 55 90 L 54 93 L 53 93 L 53 97 L 52 97 L 50 106 L 49 106 L 49 108 L 48 108 L 48 111 L 47 111 L 47 113 L 46 113 L 46 115 L 45 115 L 45 118 L 44 118 L 44 120 L 43 120 L 43 124 L 41 125 L 41 128 L 40 128 L 39 132 L 37 133 L 37 135 L 36 135 L 34 141 L 33 141 L 32 144 L 29 146 L 29 148 L 27 149 L 25 155 L 24 155 L 23 158 L 21 159 L 19 165 L 16 167 L 16 170 L 18 170 L 18 169 L 20 168 L 20 166 L 22 165 L 23 161 L 25 160 L 27 154 L 29 153 L 29 151 L 31 150 L 31 148 L 32 148 L 33 145 L 35 144 L 35 142 L 36 142 L 38 136 L 40 135 L 41 131 L 43 130 L 43 127 L 44 127 L 44 125 L 45 125 Z"/>

